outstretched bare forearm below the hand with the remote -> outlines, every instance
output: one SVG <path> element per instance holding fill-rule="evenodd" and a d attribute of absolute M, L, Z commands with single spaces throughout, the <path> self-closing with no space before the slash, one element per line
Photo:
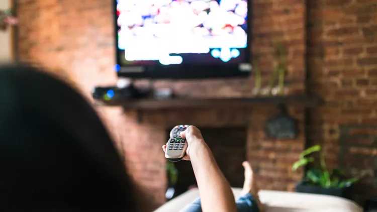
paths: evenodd
<path fill-rule="evenodd" d="M 230 184 L 203 140 L 194 138 L 191 141 L 190 159 L 198 182 L 203 211 L 237 211 Z"/>

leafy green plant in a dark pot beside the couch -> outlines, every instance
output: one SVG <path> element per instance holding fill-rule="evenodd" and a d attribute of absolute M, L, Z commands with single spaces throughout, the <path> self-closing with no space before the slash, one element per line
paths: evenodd
<path fill-rule="evenodd" d="M 300 159 L 293 164 L 292 170 L 296 171 L 299 167 L 313 163 L 314 157 L 309 155 L 314 152 L 320 153 L 320 165 L 319 167 L 309 168 L 306 171 L 304 180 L 297 184 L 296 191 L 350 198 L 350 187 L 359 178 L 347 177 L 344 170 L 340 168 L 328 170 L 325 163 L 324 153 L 321 151 L 320 145 L 315 145 L 304 150 L 300 154 Z"/>

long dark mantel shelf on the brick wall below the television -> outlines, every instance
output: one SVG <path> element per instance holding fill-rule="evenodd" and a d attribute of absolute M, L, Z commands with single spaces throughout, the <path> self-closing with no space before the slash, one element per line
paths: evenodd
<path fill-rule="evenodd" d="M 205 108 L 205 107 L 255 107 L 265 105 L 298 105 L 305 108 L 314 108 L 323 103 L 318 96 L 289 95 L 289 96 L 255 96 L 237 98 L 168 98 L 168 99 L 111 99 L 96 100 L 95 105 L 121 106 L 125 110 L 159 110 L 178 108 Z"/>

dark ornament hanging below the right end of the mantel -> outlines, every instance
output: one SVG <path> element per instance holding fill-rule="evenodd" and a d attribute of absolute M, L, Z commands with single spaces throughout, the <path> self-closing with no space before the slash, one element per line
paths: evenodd
<path fill-rule="evenodd" d="M 269 139 L 295 139 L 298 134 L 297 120 L 292 118 L 285 106 L 280 105 L 280 114 L 266 124 L 266 137 Z"/>

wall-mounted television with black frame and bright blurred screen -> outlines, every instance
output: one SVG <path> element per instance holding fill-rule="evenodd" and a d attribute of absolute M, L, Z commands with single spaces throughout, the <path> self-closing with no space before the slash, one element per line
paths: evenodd
<path fill-rule="evenodd" d="M 251 0 L 114 0 L 119 77 L 248 76 Z"/>

